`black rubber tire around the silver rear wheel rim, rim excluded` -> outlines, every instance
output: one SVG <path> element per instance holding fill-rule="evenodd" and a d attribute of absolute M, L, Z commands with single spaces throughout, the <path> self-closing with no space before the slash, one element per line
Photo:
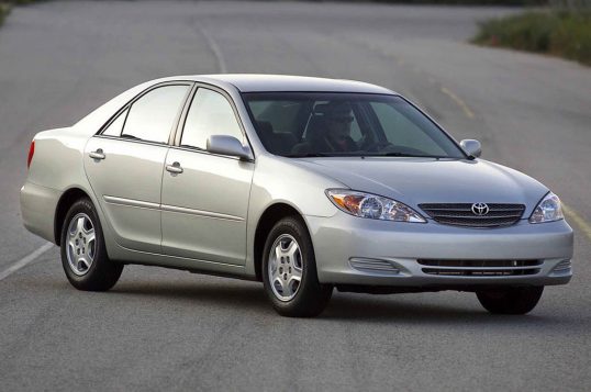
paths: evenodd
<path fill-rule="evenodd" d="M 90 242 L 87 244 L 85 238 L 83 244 L 86 245 L 86 248 L 78 249 L 82 253 L 87 253 L 89 256 L 90 253 L 92 254 L 92 262 L 90 264 L 90 267 L 87 268 L 85 268 L 85 264 L 76 261 L 73 261 L 73 266 L 70 266 L 70 261 L 68 260 L 68 251 L 70 251 L 70 259 L 76 257 L 71 256 L 73 254 L 76 255 L 76 249 L 73 251 L 73 248 L 68 244 L 70 223 L 73 223 L 75 219 L 78 221 L 80 217 L 85 219 L 85 216 L 89 219 L 90 224 L 94 229 L 93 245 L 89 245 Z M 88 223 L 88 221 L 86 222 Z M 80 199 L 70 206 L 64 220 L 60 238 L 62 266 L 64 267 L 66 277 L 71 285 L 78 290 L 85 291 L 107 291 L 115 285 L 123 271 L 123 265 L 111 261 L 107 256 L 102 226 L 97 210 L 88 198 Z M 81 239 L 82 238 L 80 238 L 80 246 L 83 246 Z M 76 238 L 76 245 L 77 244 L 78 238 Z M 70 250 L 68 250 L 68 248 Z M 76 273 L 75 270 L 78 271 L 78 273 Z"/>

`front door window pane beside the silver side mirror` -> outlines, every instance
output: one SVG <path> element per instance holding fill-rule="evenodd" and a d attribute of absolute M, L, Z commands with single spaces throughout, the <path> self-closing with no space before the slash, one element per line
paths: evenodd
<path fill-rule="evenodd" d="M 219 92 L 200 88 L 194 94 L 180 141 L 181 146 L 205 149 L 212 135 L 234 136 L 244 144 L 244 136 L 232 105 Z"/>

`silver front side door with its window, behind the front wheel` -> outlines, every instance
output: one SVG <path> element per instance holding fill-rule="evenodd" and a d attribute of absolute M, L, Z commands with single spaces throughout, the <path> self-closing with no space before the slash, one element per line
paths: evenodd
<path fill-rule="evenodd" d="M 247 143 L 230 99 L 222 91 L 199 88 L 179 146 L 171 147 L 166 158 L 163 251 L 244 265 L 254 163 L 208 153 L 211 135 L 230 135 Z"/>

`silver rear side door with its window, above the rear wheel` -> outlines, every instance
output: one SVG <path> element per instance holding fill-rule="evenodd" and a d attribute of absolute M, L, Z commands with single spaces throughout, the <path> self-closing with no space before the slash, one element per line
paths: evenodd
<path fill-rule="evenodd" d="M 161 250 L 163 169 L 190 89 L 190 83 L 166 83 L 142 93 L 85 148 L 90 184 L 123 247 Z"/>

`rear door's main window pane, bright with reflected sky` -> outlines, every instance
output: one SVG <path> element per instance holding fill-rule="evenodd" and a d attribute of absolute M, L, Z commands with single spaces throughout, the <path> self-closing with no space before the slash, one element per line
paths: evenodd
<path fill-rule="evenodd" d="M 121 136 L 168 143 L 175 119 L 188 91 L 189 86 L 164 86 L 144 94 L 130 108 Z"/>

